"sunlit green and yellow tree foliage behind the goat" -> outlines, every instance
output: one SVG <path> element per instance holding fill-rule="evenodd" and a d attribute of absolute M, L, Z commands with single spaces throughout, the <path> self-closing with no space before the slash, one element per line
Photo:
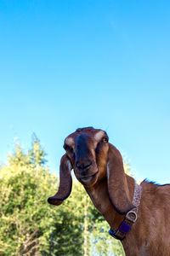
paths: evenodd
<path fill-rule="evenodd" d="M 59 182 L 48 172 L 45 156 L 33 135 L 31 148 L 25 153 L 17 143 L 0 168 L 0 255 L 124 255 L 75 179 L 60 207 L 48 205 Z"/>

